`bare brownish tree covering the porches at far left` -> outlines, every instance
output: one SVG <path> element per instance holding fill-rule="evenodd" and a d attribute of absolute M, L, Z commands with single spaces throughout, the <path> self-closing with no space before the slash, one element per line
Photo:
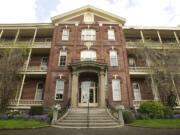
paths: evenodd
<path fill-rule="evenodd" d="M 21 81 L 19 71 L 26 59 L 26 49 L 4 49 L 0 53 L 0 112 L 7 109 Z"/>

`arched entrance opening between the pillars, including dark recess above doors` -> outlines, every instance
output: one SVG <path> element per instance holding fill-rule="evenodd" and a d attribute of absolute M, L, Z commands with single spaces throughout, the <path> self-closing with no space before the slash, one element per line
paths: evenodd
<path fill-rule="evenodd" d="M 79 74 L 78 106 L 98 106 L 98 75 L 93 72 Z"/>

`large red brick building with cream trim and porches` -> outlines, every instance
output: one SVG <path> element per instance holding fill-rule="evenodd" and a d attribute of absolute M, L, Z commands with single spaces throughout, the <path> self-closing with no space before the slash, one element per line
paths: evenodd
<path fill-rule="evenodd" d="M 166 45 L 180 46 L 179 27 L 125 26 L 125 19 L 92 6 L 51 18 L 52 23 L 0 24 L 0 49 L 29 50 L 22 82 L 10 108 L 138 107 L 145 100 L 158 100 L 153 80 L 145 78 L 150 68 L 131 51 Z M 148 39 L 153 39 L 149 42 Z M 179 85 L 174 80 L 176 93 Z"/>

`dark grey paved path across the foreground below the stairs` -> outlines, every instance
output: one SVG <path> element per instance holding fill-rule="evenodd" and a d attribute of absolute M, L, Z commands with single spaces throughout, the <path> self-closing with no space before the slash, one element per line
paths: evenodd
<path fill-rule="evenodd" d="M 0 130 L 0 135 L 180 135 L 180 129 L 151 129 L 121 127 L 113 129 L 60 129 Z"/>

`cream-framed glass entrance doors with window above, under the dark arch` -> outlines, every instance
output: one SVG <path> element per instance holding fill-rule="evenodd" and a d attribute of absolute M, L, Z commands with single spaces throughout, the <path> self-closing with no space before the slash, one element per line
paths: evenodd
<path fill-rule="evenodd" d="M 82 81 L 79 88 L 79 106 L 97 106 L 97 87 L 93 81 Z"/>

